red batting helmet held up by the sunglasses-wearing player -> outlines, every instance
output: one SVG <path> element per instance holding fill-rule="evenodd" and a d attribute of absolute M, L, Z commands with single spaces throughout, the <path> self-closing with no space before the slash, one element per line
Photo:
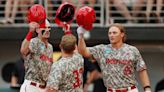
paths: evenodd
<path fill-rule="evenodd" d="M 45 8 L 40 4 L 33 5 L 27 15 L 29 22 L 37 22 L 40 28 L 45 27 L 46 11 Z"/>

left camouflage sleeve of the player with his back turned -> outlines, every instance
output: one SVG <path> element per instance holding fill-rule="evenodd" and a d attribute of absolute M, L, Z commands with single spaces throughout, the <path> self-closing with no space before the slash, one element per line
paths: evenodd
<path fill-rule="evenodd" d="M 55 90 L 59 89 L 59 83 L 62 80 L 62 70 L 59 68 L 59 62 L 54 62 L 47 81 L 47 87 Z"/>

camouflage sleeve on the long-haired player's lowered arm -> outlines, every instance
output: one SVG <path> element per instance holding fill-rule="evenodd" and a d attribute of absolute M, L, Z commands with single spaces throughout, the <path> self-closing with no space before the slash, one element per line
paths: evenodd
<path fill-rule="evenodd" d="M 136 70 L 142 71 L 142 70 L 146 69 L 146 64 L 145 64 L 139 50 L 136 47 L 134 47 L 133 51 L 135 54 Z"/>

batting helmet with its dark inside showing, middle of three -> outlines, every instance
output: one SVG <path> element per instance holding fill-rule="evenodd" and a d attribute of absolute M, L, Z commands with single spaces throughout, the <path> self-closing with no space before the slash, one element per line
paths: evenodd
<path fill-rule="evenodd" d="M 72 4 L 69 3 L 63 3 L 59 6 L 59 8 L 56 11 L 55 16 L 55 22 L 63 27 L 64 22 L 71 23 L 73 21 L 75 14 L 75 7 Z"/>

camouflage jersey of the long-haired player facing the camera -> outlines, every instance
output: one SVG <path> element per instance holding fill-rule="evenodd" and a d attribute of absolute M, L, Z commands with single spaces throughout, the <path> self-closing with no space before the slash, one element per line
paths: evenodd
<path fill-rule="evenodd" d="M 97 45 L 89 48 L 98 62 L 103 81 L 107 88 L 126 88 L 137 85 L 135 70 L 142 71 L 146 65 L 134 46 L 123 44 L 119 49 L 108 45 Z"/>

